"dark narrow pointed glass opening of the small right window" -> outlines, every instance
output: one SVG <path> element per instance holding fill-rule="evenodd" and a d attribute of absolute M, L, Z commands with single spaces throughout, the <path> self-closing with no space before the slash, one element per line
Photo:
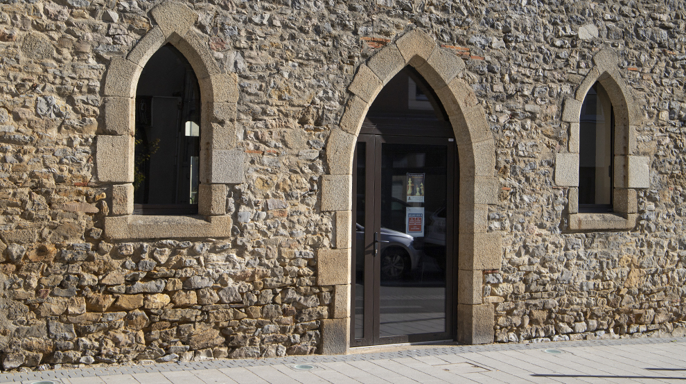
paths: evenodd
<path fill-rule="evenodd" d="M 588 90 L 579 119 L 579 211 L 612 211 L 613 107 L 596 82 Z"/>

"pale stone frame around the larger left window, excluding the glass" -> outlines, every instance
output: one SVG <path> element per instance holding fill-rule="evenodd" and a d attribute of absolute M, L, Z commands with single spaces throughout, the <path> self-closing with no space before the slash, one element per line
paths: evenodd
<path fill-rule="evenodd" d="M 224 73 L 193 30 L 197 14 L 166 1 L 150 10 L 157 23 L 125 58 L 109 63 L 103 87 L 103 129 L 97 138 L 96 175 L 112 184 L 112 211 L 105 218 L 109 238 L 229 236 L 227 184 L 243 182 L 245 153 L 236 150 L 238 80 Z M 143 67 L 164 44 L 173 44 L 191 63 L 200 84 L 200 190 L 197 216 L 134 216 L 134 124 L 136 88 Z"/>

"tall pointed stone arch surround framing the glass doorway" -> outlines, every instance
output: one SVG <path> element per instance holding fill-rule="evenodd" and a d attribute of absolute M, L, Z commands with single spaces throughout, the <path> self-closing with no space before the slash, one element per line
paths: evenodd
<path fill-rule="evenodd" d="M 459 238 L 457 276 L 457 340 L 468 344 L 493 342 L 493 304 L 482 302 L 484 270 L 500 269 L 500 234 L 488 232 L 489 205 L 496 204 L 495 142 L 471 87 L 461 78 L 464 62 L 441 49 L 421 30 L 412 30 L 387 44 L 360 65 L 349 86 L 351 96 L 340 126 L 326 145 L 329 174 L 322 181 L 322 211 L 334 212 L 334 249 L 317 254 L 319 285 L 335 286 L 333 319 L 322 326 L 322 352 L 344 354 L 351 321 L 352 161 L 364 116 L 379 91 L 411 65 L 434 89 L 450 118 L 459 156 Z"/>

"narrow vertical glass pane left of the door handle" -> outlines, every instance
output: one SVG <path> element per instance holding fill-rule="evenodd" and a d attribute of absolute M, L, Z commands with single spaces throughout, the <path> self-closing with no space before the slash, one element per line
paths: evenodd
<path fill-rule="evenodd" d="M 357 147 L 357 200 L 355 201 L 355 338 L 364 337 L 364 192 L 366 191 L 366 143 Z"/>

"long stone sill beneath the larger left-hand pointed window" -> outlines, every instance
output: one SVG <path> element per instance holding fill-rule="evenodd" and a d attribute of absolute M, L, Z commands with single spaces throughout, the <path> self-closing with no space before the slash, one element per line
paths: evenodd
<path fill-rule="evenodd" d="M 231 236 L 230 216 L 110 216 L 105 236 L 112 239 L 208 238 Z"/>

